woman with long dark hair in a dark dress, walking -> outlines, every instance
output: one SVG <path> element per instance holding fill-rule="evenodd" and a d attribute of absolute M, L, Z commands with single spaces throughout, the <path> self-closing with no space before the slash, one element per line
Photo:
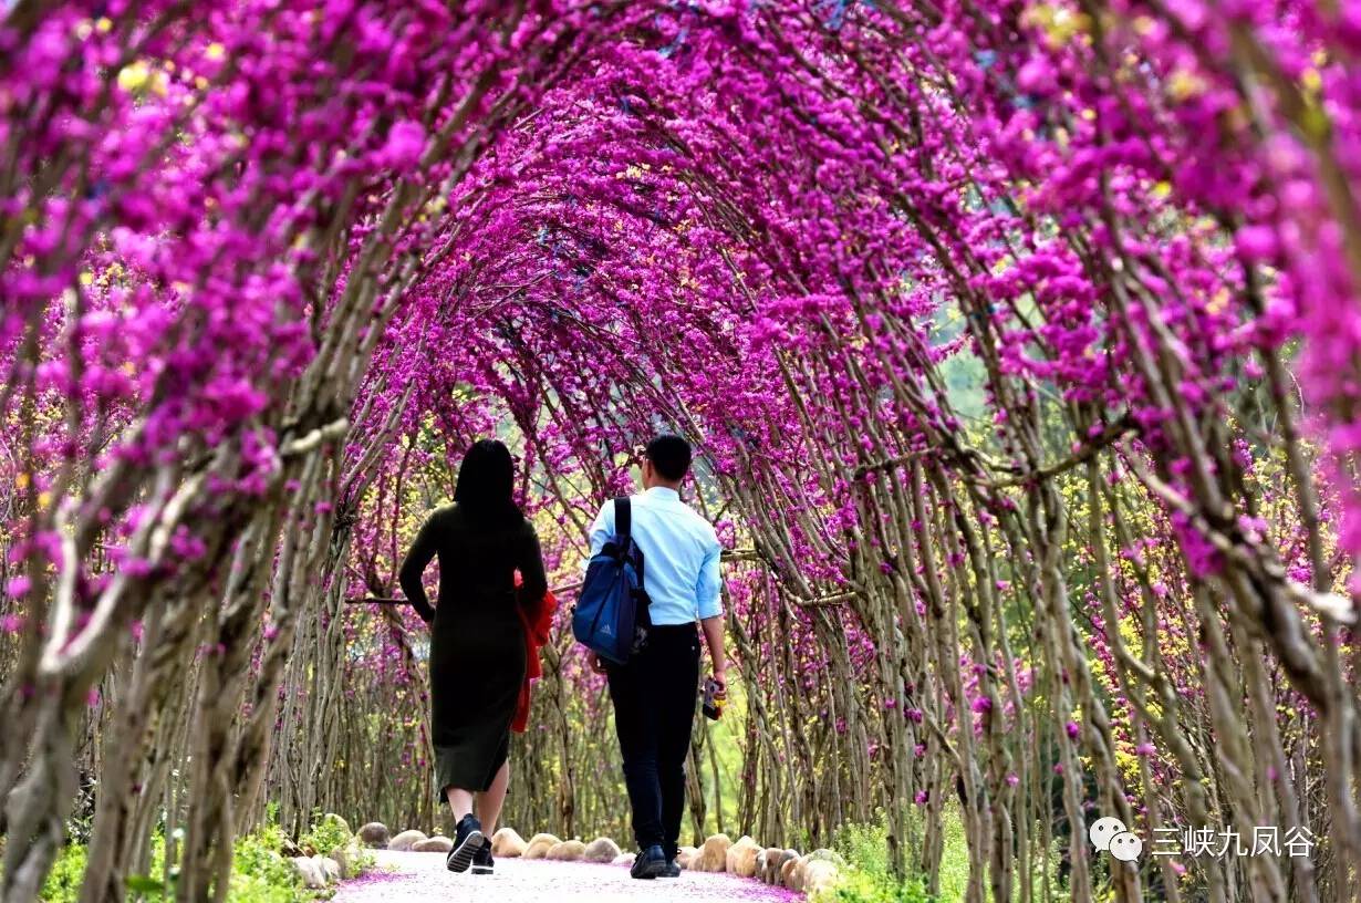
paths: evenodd
<path fill-rule="evenodd" d="M 475 874 L 491 872 L 487 835 L 506 795 L 510 719 L 525 671 L 517 606 L 535 605 L 547 591 L 539 538 L 514 504 L 513 486 L 506 447 L 493 439 L 475 444 L 459 467 L 453 504 L 430 515 L 401 563 L 401 591 L 434 622 L 431 738 L 436 786 L 457 821 L 450 872 L 470 865 Z M 436 556 L 440 597 L 431 607 L 421 575 Z"/>

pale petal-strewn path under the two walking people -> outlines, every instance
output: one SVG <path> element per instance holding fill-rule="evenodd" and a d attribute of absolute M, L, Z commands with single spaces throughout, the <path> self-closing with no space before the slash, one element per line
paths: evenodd
<path fill-rule="evenodd" d="M 636 881 L 627 866 L 543 859 L 497 859 L 495 874 L 453 874 L 437 853 L 374 850 L 378 865 L 369 874 L 340 884 L 333 903 L 720 903 L 753 900 L 793 903 L 802 893 L 731 874 L 685 872 L 679 878 Z"/>

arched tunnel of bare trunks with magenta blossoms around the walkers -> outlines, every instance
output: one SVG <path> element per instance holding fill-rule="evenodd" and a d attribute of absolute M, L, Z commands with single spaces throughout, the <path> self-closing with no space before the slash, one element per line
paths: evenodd
<path fill-rule="evenodd" d="M 0 48 L 4 899 L 433 823 L 372 599 L 499 436 L 570 601 L 663 429 L 740 678 L 687 829 L 875 825 L 970 903 L 1357 887 L 1353 11 L 18 0 Z M 508 820 L 622 832 L 544 655 Z M 1317 846 L 1120 869 L 1098 814 Z"/>

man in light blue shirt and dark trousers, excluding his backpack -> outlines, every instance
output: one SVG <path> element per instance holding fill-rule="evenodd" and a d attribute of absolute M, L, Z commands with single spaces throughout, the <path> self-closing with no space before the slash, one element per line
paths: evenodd
<path fill-rule="evenodd" d="M 644 492 L 630 500 L 630 535 L 642 552 L 642 586 L 652 601 L 646 646 L 626 665 L 606 665 L 591 654 L 591 666 L 610 678 L 638 842 L 632 869 L 636 878 L 680 874 L 675 858 L 685 810 L 685 759 L 700 688 L 697 620 L 709 646 L 713 678 L 727 688 L 721 549 L 709 522 L 680 501 L 690 458 L 690 444 L 679 436 L 653 439 L 642 462 Z M 591 554 L 612 535 L 611 501 L 591 527 Z"/>

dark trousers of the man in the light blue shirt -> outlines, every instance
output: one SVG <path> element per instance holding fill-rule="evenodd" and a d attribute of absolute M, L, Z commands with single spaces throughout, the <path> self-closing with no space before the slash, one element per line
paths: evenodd
<path fill-rule="evenodd" d="M 640 850 L 676 855 L 685 812 L 685 759 L 700 693 L 700 633 L 694 624 L 653 627 L 627 665 L 610 665 L 614 727 Z"/>

